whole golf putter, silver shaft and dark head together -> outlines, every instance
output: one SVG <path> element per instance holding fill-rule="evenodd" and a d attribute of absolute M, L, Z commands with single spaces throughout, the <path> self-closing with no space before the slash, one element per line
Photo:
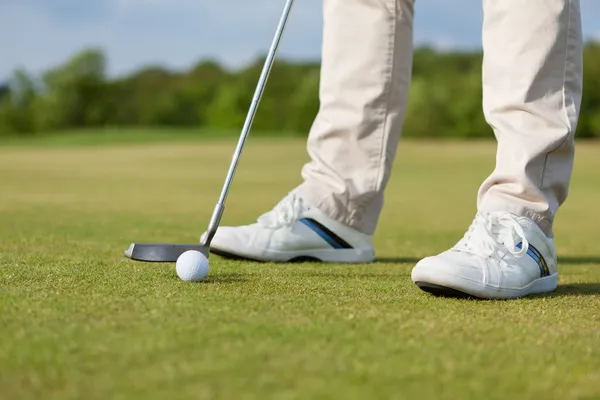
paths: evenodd
<path fill-rule="evenodd" d="M 252 103 L 250 105 L 250 109 L 248 110 L 248 115 L 246 116 L 246 121 L 242 128 L 242 133 L 240 135 L 240 139 L 238 141 L 237 147 L 233 154 L 231 164 L 229 166 L 229 171 L 227 173 L 227 177 L 225 178 L 225 183 L 223 184 L 223 189 L 221 191 L 221 195 L 213 214 L 210 218 L 210 222 L 208 224 L 207 234 L 199 244 L 169 244 L 169 243 L 131 243 L 129 248 L 125 250 L 125 256 L 136 261 L 146 261 L 146 262 L 175 262 L 179 258 L 179 256 L 188 251 L 188 250 L 197 250 L 204 254 L 207 258 L 209 257 L 210 252 L 210 243 L 217 232 L 217 228 L 219 223 L 221 222 L 221 217 L 223 216 L 223 211 L 225 210 L 225 201 L 227 199 L 227 195 L 229 194 L 229 188 L 231 187 L 231 182 L 233 181 L 233 177 L 235 176 L 235 171 L 239 164 L 239 159 L 242 154 L 242 149 L 244 148 L 244 144 L 246 142 L 246 138 L 248 133 L 250 132 L 250 128 L 252 127 L 252 123 L 254 122 L 254 117 L 256 115 L 256 111 L 258 109 L 258 105 L 262 98 L 262 94 L 264 92 L 265 86 L 267 84 L 267 80 L 269 79 L 269 74 L 271 72 L 271 68 L 273 67 L 273 61 L 275 60 L 275 56 L 277 54 L 277 49 L 279 48 L 279 43 L 281 42 L 281 37 L 283 36 L 283 32 L 285 30 L 288 17 L 290 15 L 290 11 L 292 10 L 292 6 L 294 4 L 294 0 L 287 0 L 285 4 L 285 8 L 283 10 L 283 14 L 279 21 L 279 25 L 277 27 L 277 31 L 275 32 L 275 37 L 273 38 L 273 42 L 271 44 L 271 48 L 269 49 L 269 53 L 265 60 L 265 64 L 263 66 L 262 72 L 260 74 L 260 78 L 258 80 L 258 84 L 256 86 L 256 90 L 254 92 L 254 96 L 252 98 Z"/>

